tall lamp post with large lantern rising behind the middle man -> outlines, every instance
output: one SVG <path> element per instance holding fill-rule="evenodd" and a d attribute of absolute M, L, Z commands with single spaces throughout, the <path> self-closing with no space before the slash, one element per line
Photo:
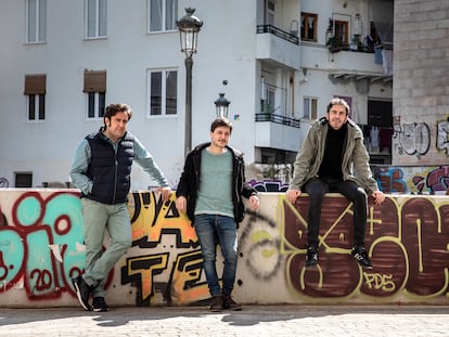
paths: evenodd
<path fill-rule="evenodd" d="M 185 53 L 185 141 L 184 156 L 192 147 L 192 55 L 196 53 L 197 35 L 203 22 L 193 15 L 195 9 L 185 9 L 187 14 L 176 22 L 181 41 L 181 52 Z"/>

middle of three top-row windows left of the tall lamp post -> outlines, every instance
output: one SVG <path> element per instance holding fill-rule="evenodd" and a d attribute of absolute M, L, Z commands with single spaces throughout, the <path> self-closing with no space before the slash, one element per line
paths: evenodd
<path fill-rule="evenodd" d="M 86 0 L 86 37 L 105 37 L 106 27 L 106 0 Z"/>

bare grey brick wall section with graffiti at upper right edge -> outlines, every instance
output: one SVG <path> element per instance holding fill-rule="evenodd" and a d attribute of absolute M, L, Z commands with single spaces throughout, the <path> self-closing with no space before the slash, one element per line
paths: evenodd
<path fill-rule="evenodd" d="M 394 30 L 393 165 L 447 164 L 449 1 L 396 0 Z"/>

